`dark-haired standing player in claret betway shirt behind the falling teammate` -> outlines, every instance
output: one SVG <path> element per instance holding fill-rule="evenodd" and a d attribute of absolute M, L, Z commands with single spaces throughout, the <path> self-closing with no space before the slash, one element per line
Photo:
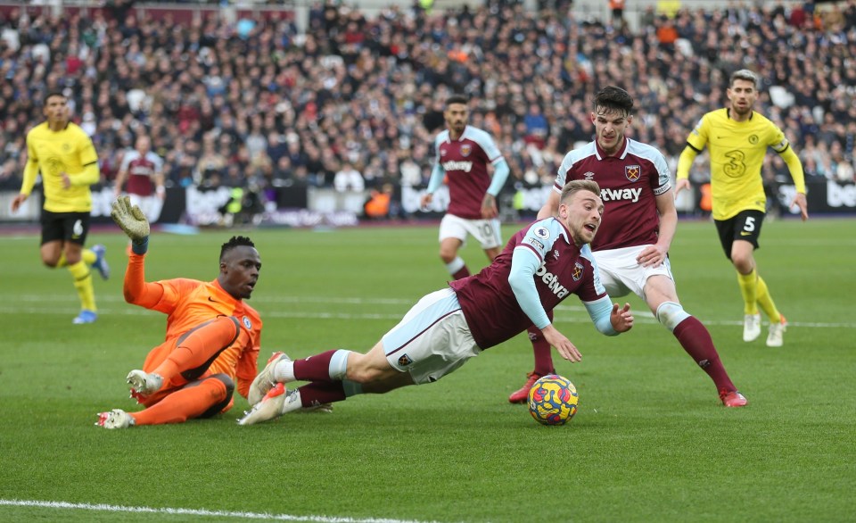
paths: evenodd
<path fill-rule="evenodd" d="M 596 181 L 605 213 L 591 246 L 606 291 L 612 296 L 632 292 L 642 298 L 712 378 L 722 403 L 742 407 L 746 398 L 728 378 L 707 328 L 679 303 L 668 257 L 678 225 L 669 167 L 654 147 L 624 136 L 632 110 L 633 98 L 619 87 L 597 93 L 591 113 L 596 139 L 565 155 L 539 218 L 558 210 L 559 191 L 566 182 Z"/>

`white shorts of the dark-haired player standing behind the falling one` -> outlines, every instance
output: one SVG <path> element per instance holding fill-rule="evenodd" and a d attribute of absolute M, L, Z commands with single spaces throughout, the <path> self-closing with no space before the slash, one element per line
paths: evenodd
<path fill-rule="evenodd" d="M 611 297 L 626 296 L 630 293 L 645 300 L 645 282 L 655 274 L 662 274 L 674 281 L 671 276 L 671 263 L 667 257 L 657 267 L 643 267 L 636 258 L 648 245 L 624 247 L 595 251 L 597 270 L 600 280 Z"/>

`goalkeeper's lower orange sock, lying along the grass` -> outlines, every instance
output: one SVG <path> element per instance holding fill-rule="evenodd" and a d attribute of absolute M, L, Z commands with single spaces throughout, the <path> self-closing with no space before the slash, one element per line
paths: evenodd
<path fill-rule="evenodd" d="M 226 401 L 226 385 L 217 378 L 207 378 L 199 385 L 185 386 L 169 394 L 148 409 L 132 412 L 136 425 L 183 423 L 199 418 L 214 405 Z"/>

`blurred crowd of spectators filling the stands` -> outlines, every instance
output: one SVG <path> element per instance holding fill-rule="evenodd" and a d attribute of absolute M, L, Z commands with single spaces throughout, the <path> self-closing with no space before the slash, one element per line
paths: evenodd
<path fill-rule="evenodd" d="M 556 3 L 540 3 L 555 5 Z M 567 4 L 562 4 L 567 5 Z M 567 8 L 489 0 L 366 18 L 313 4 L 288 16 L 177 24 L 133 9 L 0 20 L 0 187 L 20 187 L 24 137 L 46 93 L 65 91 L 111 183 L 140 133 L 178 186 L 419 186 L 431 172 L 444 100 L 472 96 L 471 123 L 511 166 L 509 184 L 552 183 L 592 136 L 591 96 L 627 88 L 629 135 L 674 162 L 687 133 L 727 102 L 731 71 L 763 79 L 758 110 L 791 139 L 807 177 L 853 179 L 856 0 L 821 11 L 780 3 L 649 11 L 640 28 Z M 770 154 L 770 172 L 786 173 Z M 693 177 L 708 175 L 697 161 Z"/>

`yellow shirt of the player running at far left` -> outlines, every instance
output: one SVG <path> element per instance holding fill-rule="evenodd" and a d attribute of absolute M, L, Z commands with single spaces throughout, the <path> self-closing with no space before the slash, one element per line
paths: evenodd
<path fill-rule="evenodd" d="M 89 186 L 98 181 L 98 154 L 92 140 L 76 124 L 53 131 L 47 122 L 27 133 L 27 169 L 21 193 L 29 195 L 36 183 L 37 171 L 42 173 L 45 186 L 45 211 L 89 212 L 92 193 Z M 86 169 L 95 164 L 95 169 Z M 62 172 L 69 175 L 71 187 L 62 187 Z"/>

